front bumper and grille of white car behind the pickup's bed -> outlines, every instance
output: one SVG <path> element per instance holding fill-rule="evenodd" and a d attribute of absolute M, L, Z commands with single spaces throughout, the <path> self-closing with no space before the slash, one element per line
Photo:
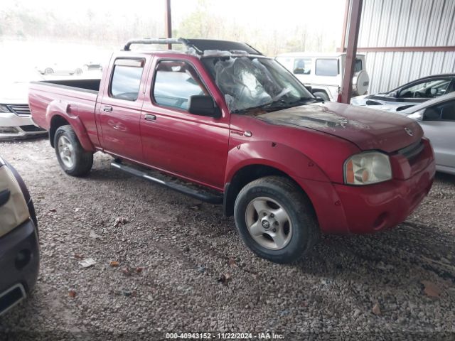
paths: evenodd
<path fill-rule="evenodd" d="M 23 139 L 47 134 L 33 123 L 31 116 L 21 117 L 13 112 L 0 112 L 0 140 Z"/>

